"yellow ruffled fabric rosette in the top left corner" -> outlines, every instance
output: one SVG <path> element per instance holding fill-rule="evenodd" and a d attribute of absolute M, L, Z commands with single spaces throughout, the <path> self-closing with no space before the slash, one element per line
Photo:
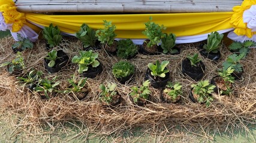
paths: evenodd
<path fill-rule="evenodd" d="M 0 0 L 0 12 L 4 16 L 5 23 L 13 24 L 12 32 L 19 32 L 23 24 L 26 23 L 24 13 L 19 13 L 12 0 Z"/>

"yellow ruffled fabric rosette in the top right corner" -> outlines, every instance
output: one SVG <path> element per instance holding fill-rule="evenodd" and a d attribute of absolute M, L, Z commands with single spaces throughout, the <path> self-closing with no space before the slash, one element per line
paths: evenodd
<path fill-rule="evenodd" d="M 243 23 L 243 12 L 255 4 L 255 0 L 245 0 L 242 5 L 233 8 L 234 14 L 231 17 L 230 24 L 234 27 L 236 35 L 246 35 L 248 38 L 252 38 L 252 35 L 256 34 L 256 32 L 252 32 L 252 29 L 247 27 L 246 23 Z"/>

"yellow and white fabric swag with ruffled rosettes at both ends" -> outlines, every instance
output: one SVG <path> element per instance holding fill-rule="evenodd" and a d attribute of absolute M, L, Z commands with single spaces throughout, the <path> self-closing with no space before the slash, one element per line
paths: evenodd
<path fill-rule="evenodd" d="M 103 20 L 107 20 L 116 25 L 117 38 L 130 38 L 138 44 L 146 38 L 141 32 L 145 28 L 144 23 L 152 16 L 155 23 L 167 27 L 164 32 L 174 33 L 177 36 L 177 43 L 189 43 L 203 41 L 210 32 L 215 31 L 219 33 L 232 31 L 228 37 L 234 41 L 255 40 L 255 5 L 256 1 L 245 0 L 242 5 L 234 7 L 233 12 L 224 13 L 46 15 L 19 13 L 12 0 L 0 0 L 0 12 L 5 24 L 11 24 L 11 29 L 9 26 L 11 32 L 28 31 L 30 33 L 23 35 L 29 38 L 32 29 L 39 32 L 50 23 L 57 25 L 62 33 L 74 35 L 83 23 L 94 29 L 100 29 L 103 28 Z M 25 30 L 23 27 L 26 27 Z"/>

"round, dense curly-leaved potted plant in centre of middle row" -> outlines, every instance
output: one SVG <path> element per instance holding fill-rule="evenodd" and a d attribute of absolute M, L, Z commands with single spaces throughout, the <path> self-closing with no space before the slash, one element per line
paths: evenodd
<path fill-rule="evenodd" d="M 129 61 L 119 61 L 112 67 L 113 76 L 116 77 L 116 79 L 122 84 L 125 84 L 127 80 L 131 79 L 134 72 L 134 64 L 130 63 Z"/>

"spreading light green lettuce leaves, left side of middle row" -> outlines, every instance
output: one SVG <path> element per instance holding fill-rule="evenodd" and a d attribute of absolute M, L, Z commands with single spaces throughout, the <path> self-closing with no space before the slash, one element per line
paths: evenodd
<path fill-rule="evenodd" d="M 100 62 L 97 60 L 98 54 L 92 52 L 91 49 L 89 51 L 79 51 L 79 55 L 80 56 L 75 55 L 72 58 L 72 63 L 79 64 L 79 73 L 87 71 L 90 65 L 92 67 L 98 67 L 100 65 Z"/>

